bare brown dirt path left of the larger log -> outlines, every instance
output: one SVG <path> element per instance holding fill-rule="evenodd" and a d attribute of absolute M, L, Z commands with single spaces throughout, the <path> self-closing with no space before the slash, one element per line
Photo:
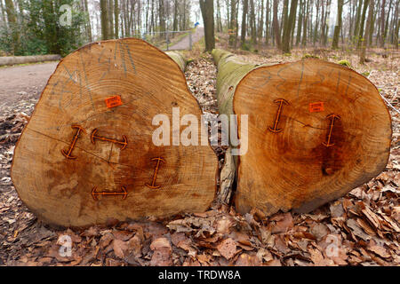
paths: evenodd
<path fill-rule="evenodd" d="M 0 107 L 20 99 L 39 98 L 58 61 L 0 68 Z"/>

